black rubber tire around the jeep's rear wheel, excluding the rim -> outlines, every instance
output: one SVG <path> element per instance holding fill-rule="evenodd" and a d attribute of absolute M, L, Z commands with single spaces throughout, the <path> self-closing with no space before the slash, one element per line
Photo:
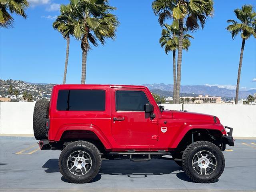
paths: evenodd
<path fill-rule="evenodd" d="M 75 151 L 82 150 L 90 155 L 92 159 L 92 166 L 90 170 L 82 175 L 75 175 L 70 172 L 68 169 L 68 157 Z M 101 167 L 101 155 L 98 148 L 87 141 L 75 141 L 68 144 L 61 152 L 59 158 L 59 168 L 62 176 L 71 183 L 88 183 L 93 180 L 98 172 L 100 171 Z"/>

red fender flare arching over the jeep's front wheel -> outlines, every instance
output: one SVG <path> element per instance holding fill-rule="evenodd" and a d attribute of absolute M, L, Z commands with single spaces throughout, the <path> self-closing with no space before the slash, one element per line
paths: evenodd
<path fill-rule="evenodd" d="M 227 134 L 226 130 L 224 129 L 224 126 L 222 124 L 198 124 L 198 125 L 184 125 L 180 127 L 180 132 L 177 132 L 177 134 L 174 136 L 174 138 L 179 138 L 179 139 L 174 139 L 170 143 L 170 148 L 177 148 L 178 144 L 180 141 L 184 138 L 186 133 L 190 130 L 193 129 L 208 129 L 208 130 L 218 130 L 220 133 L 223 135 Z M 223 131 L 222 131 L 223 130 Z"/>

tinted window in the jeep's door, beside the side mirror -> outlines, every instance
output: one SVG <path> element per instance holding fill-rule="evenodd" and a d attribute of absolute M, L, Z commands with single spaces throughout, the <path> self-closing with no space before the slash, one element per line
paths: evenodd
<path fill-rule="evenodd" d="M 143 111 L 146 103 L 149 101 L 142 91 L 116 91 L 117 111 Z"/>

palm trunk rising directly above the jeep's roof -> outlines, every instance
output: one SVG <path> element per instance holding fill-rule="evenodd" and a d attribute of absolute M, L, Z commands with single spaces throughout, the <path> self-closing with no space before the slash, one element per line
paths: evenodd
<path fill-rule="evenodd" d="M 81 78 L 81 84 L 85 84 L 86 79 L 86 59 L 87 59 L 87 51 L 88 51 L 88 40 L 86 34 L 82 38 L 81 42 L 81 48 L 83 51 L 82 55 L 82 78 Z"/>

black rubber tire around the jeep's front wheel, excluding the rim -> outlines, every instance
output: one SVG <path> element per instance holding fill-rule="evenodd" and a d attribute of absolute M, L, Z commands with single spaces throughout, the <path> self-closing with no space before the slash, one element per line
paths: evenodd
<path fill-rule="evenodd" d="M 200 151 L 211 152 L 216 158 L 216 168 L 209 175 L 201 175 L 192 166 L 194 156 Z M 197 141 L 190 144 L 182 154 L 182 168 L 186 175 L 197 183 L 212 183 L 218 180 L 224 171 L 225 159 L 220 148 L 208 141 Z"/>

